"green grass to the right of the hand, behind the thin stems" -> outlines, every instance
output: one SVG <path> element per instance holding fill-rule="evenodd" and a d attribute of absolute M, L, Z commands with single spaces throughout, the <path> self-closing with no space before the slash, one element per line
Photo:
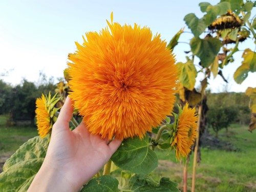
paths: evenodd
<path fill-rule="evenodd" d="M 231 142 L 239 150 L 228 152 L 222 150 L 201 149 L 201 164 L 197 166 L 196 191 L 256 191 L 255 163 L 255 132 L 247 131 L 248 126 L 233 124 L 226 130 L 221 130 L 219 139 Z M 163 151 L 157 151 L 159 159 L 173 162 L 172 167 L 157 168 L 155 176 L 171 176 L 180 183 L 182 189 L 183 165 L 177 163 L 173 153 L 166 156 Z M 170 157 L 171 156 L 171 157 Z M 188 191 L 191 186 L 192 161 L 188 164 Z M 161 161 L 160 161 L 161 162 Z"/>

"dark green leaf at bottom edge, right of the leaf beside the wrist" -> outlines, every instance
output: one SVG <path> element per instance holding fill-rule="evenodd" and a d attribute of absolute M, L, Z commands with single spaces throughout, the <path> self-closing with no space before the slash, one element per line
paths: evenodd
<path fill-rule="evenodd" d="M 148 175 L 136 174 L 130 179 L 128 189 L 134 192 L 179 192 L 177 186 L 176 182 L 170 181 L 167 177 L 162 177 L 156 182 Z"/>

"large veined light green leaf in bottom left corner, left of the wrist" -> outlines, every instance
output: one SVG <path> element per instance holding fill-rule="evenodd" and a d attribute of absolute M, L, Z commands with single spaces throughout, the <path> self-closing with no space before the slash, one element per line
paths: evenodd
<path fill-rule="evenodd" d="M 34 137 L 8 159 L 0 174 L 1 191 L 26 191 L 44 161 L 48 137 Z"/>

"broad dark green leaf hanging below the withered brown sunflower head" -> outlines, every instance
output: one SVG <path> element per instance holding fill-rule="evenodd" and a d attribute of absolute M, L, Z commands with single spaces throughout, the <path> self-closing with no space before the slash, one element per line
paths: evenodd
<path fill-rule="evenodd" d="M 194 37 L 190 41 L 190 47 L 193 54 L 200 58 L 201 65 L 207 68 L 214 62 L 216 55 L 222 47 L 222 42 L 213 37 L 208 37 L 206 39 Z"/>

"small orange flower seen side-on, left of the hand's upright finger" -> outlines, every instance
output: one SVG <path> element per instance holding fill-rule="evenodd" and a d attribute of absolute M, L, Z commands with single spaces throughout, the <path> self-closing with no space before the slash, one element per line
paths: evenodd
<path fill-rule="evenodd" d="M 55 96 L 56 95 L 51 98 L 50 93 L 48 97 L 42 94 L 41 98 L 36 99 L 36 124 L 38 135 L 41 138 L 44 138 L 51 133 L 52 126 L 57 120 L 55 113 L 60 108 L 54 108 L 54 106 L 60 98 L 55 98 Z"/>

